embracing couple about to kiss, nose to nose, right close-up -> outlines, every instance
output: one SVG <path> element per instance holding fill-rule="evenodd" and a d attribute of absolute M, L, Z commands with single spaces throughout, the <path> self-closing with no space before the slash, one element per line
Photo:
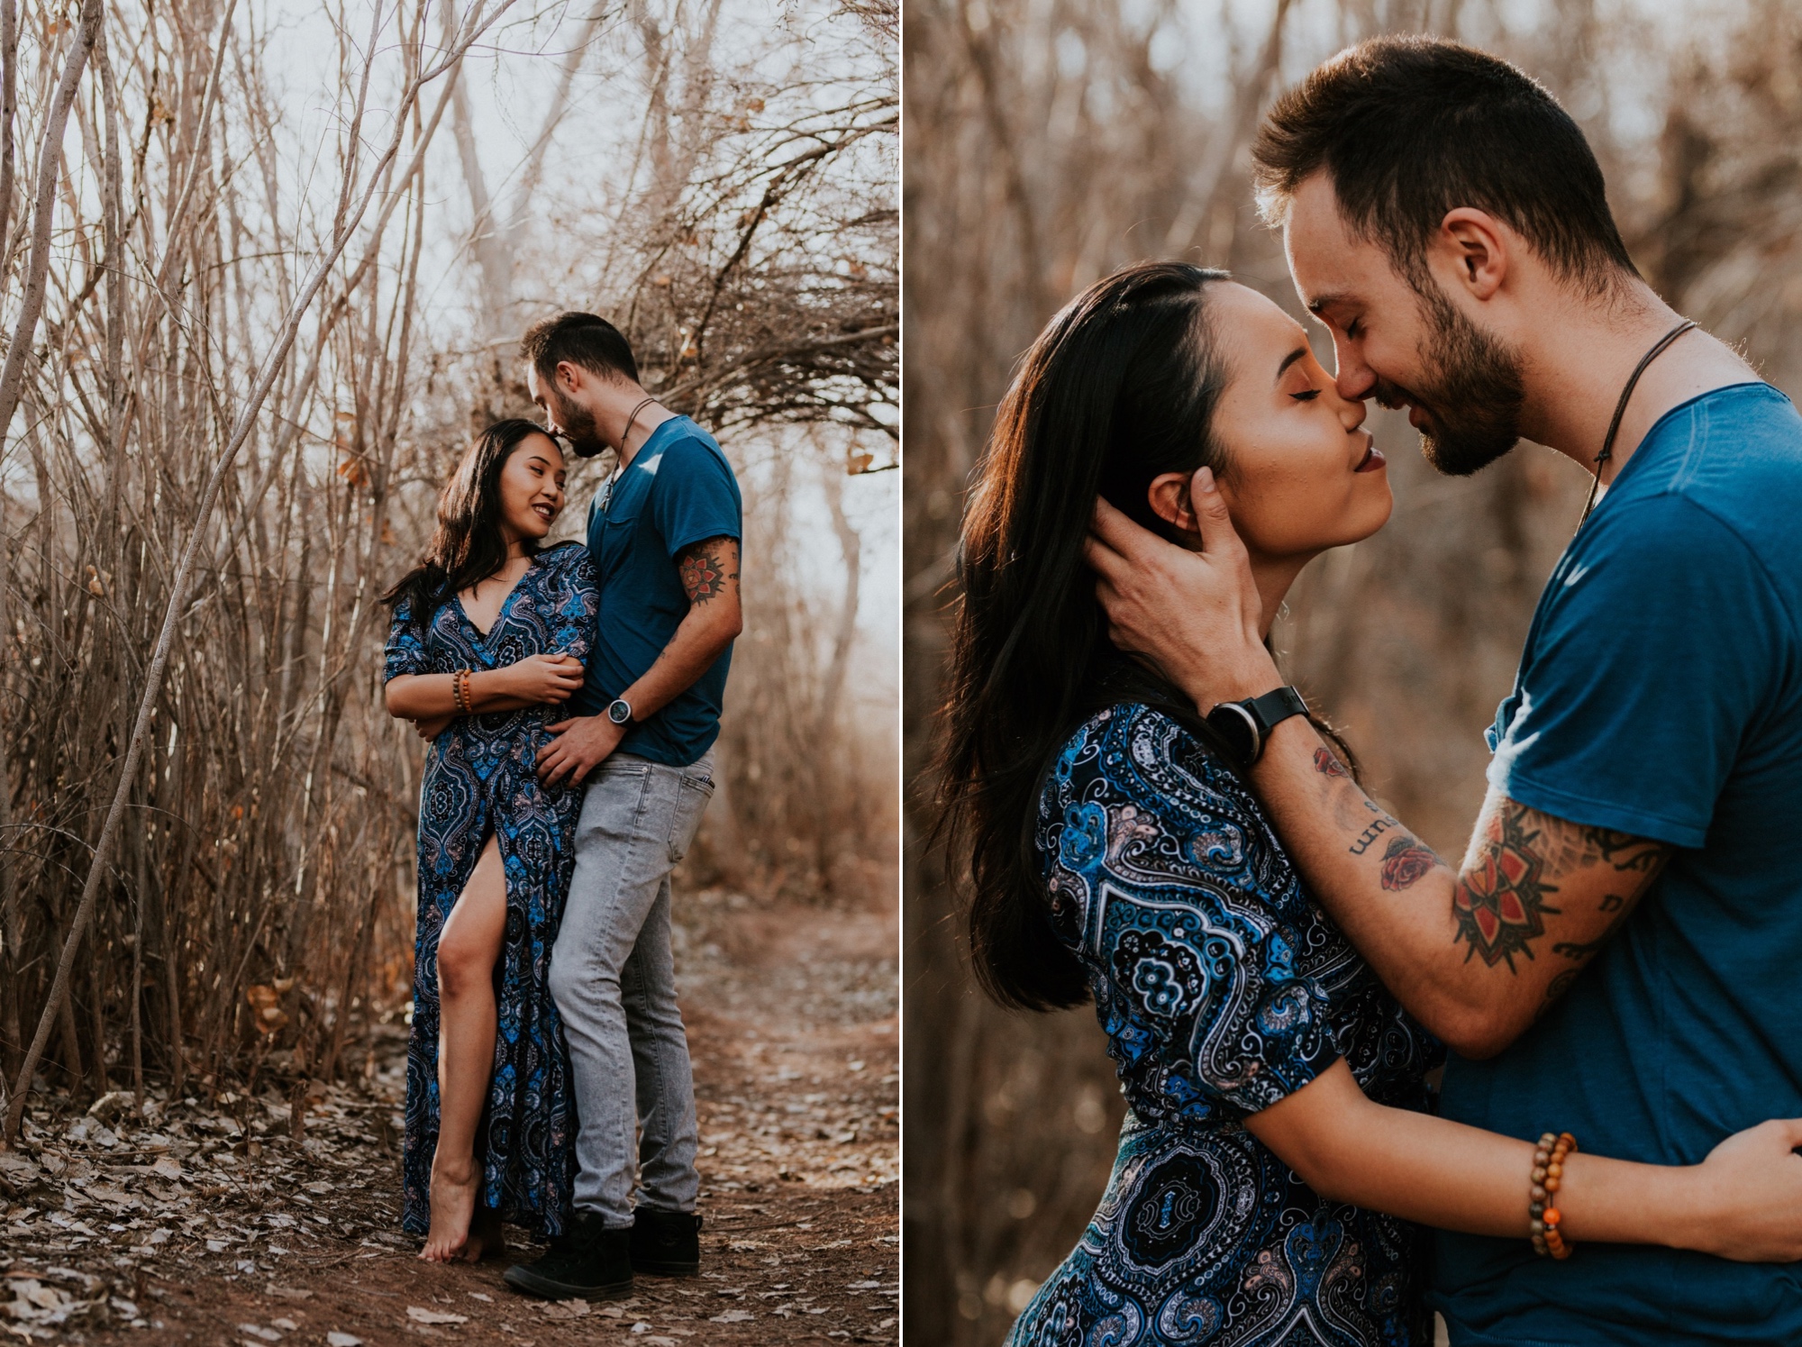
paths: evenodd
<path fill-rule="evenodd" d="M 1361 43 L 1252 162 L 1335 371 L 1224 272 L 1132 267 L 1025 353 L 964 513 L 973 963 L 1094 999 L 1128 1102 L 1009 1343 L 1802 1342 L 1802 418 L 1505 61 Z M 1370 398 L 1442 472 L 1530 438 L 1595 479 L 1461 863 L 1267 645 L 1389 519 Z"/>

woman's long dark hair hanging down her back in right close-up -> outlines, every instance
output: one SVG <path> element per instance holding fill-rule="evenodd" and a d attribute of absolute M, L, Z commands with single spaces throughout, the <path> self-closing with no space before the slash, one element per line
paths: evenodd
<path fill-rule="evenodd" d="M 1083 538 L 1097 495 L 1175 537 L 1151 511 L 1151 479 L 1224 468 L 1211 427 L 1227 375 L 1206 303 L 1224 279 L 1142 263 L 1070 301 L 1020 362 L 964 508 L 939 782 L 953 873 L 969 864 L 977 978 L 1004 1005 L 1045 1010 L 1088 994 L 1051 929 L 1033 846 L 1040 782 L 1061 744 L 1117 701 L 1207 735 L 1177 688 L 1108 641 Z"/>

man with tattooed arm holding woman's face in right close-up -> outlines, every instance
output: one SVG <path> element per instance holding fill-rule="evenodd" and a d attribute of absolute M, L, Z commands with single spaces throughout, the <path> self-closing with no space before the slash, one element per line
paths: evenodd
<path fill-rule="evenodd" d="M 1099 511 L 1115 639 L 1242 737 L 1315 899 L 1458 1052 L 1445 1116 L 1692 1165 L 1802 1115 L 1802 418 L 1640 279 L 1582 133 L 1503 61 L 1362 43 L 1274 104 L 1252 157 L 1344 398 L 1407 405 L 1443 472 L 1524 436 L 1606 495 L 1539 601 L 1456 868 L 1386 866 L 1424 848 L 1265 697 L 1218 490 L 1191 497 L 1202 555 Z M 1602 1243 L 1553 1262 L 1528 1187 L 1521 1237 L 1438 1237 L 1454 1347 L 1802 1342 L 1802 1268 Z"/>

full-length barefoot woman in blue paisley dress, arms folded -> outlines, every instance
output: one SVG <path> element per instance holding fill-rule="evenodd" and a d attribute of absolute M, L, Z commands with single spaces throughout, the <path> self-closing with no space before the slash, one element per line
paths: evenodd
<path fill-rule="evenodd" d="M 542 547 L 564 459 L 499 421 L 438 501 L 425 560 L 386 596 L 389 713 L 431 742 L 407 1043 L 402 1226 L 420 1257 L 501 1252 L 501 1221 L 555 1235 L 575 1116 L 548 974 L 580 789 L 544 785 L 551 708 L 582 684 L 598 609 L 587 549 Z"/>

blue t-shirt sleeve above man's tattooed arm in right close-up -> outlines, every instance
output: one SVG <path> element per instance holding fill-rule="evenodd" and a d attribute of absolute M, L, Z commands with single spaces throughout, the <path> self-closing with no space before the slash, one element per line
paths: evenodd
<path fill-rule="evenodd" d="M 1746 544 L 1690 501 L 1597 524 L 1552 576 L 1488 782 L 1570 823 L 1696 848 L 1777 690 L 1789 618 Z"/>

